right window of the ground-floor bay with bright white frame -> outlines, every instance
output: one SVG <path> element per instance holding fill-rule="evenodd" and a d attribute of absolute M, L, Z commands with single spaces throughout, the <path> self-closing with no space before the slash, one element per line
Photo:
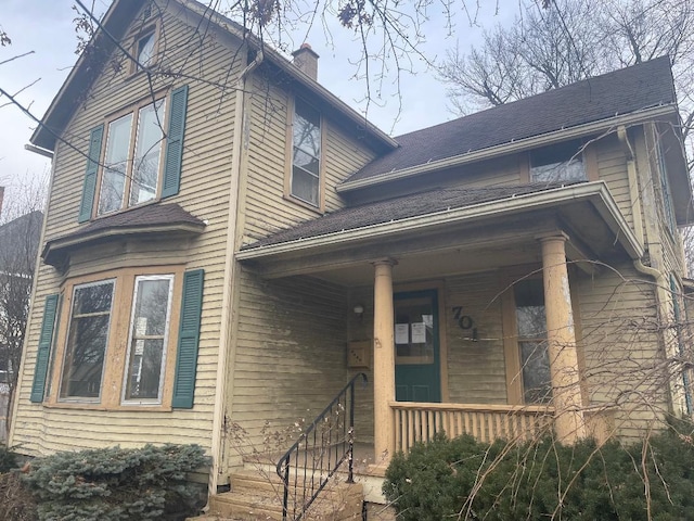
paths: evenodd
<path fill-rule="evenodd" d="M 124 404 L 160 404 L 171 317 L 174 276 L 134 279 Z"/>

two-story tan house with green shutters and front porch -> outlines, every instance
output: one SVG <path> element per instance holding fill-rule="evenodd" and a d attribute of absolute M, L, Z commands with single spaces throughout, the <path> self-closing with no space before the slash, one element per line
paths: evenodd
<path fill-rule="evenodd" d="M 113 3 L 31 139 L 53 163 L 11 444 L 198 443 L 214 492 L 232 425 L 260 444 L 362 371 L 336 410 L 376 470 L 440 430 L 691 412 L 667 58 L 395 139 L 317 60 L 192 0 Z"/>

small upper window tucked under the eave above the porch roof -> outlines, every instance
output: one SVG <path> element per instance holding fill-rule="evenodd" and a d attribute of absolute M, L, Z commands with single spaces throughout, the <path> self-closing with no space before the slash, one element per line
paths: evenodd
<path fill-rule="evenodd" d="M 579 141 L 567 141 L 530 152 L 531 182 L 586 181 L 586 167 Z"/>

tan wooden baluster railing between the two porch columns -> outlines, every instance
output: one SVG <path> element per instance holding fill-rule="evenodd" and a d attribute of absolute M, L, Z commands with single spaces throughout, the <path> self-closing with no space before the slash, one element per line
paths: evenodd
<path fill-rule="evenodd" d="M 390 402 L 396 450 L 408 452 L 437 432 L 471 434 L 483 442 L 528 440 L 551 429 L 554 409 L 538 405 L 477 405 Z"/>

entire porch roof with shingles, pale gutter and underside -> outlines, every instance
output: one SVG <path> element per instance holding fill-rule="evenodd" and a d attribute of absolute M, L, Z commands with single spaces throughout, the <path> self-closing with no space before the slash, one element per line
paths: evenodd
<path fill-rule="evenodd" d="M 244 245 L 239 260 L 267 276 L 317 272 L 388 255 L 465 247 L 512 249 L 561 230 L 574 259 L 595 260 L 643 249 L 603 181 L 570 186 L 439 188 L 340 209 Z M 472 251 L 472 250 L 468 250 Z"/>

